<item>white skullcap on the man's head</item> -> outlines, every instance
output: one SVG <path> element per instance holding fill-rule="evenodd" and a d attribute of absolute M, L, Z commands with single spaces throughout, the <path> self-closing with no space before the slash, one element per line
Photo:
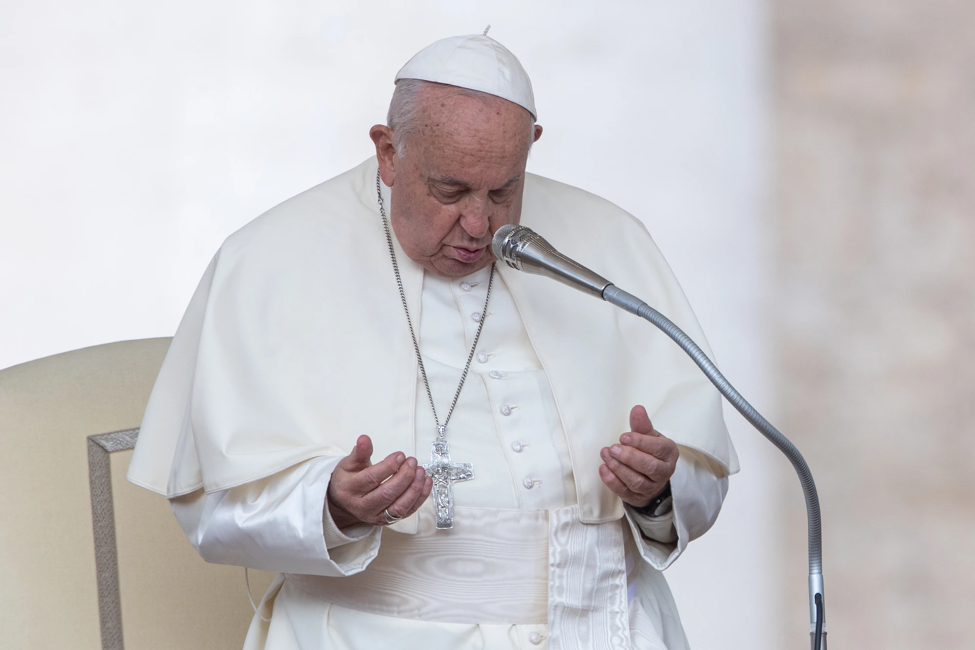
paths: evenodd
<path fill-rule="evenodd" d="M 524 106 L 538 119 L 528 73 L 518 57 L 487 33 L 451 36 L 428 45 L 396 73 L 394 81 L 400 79 L 422 79 L 499 96 Z"/>

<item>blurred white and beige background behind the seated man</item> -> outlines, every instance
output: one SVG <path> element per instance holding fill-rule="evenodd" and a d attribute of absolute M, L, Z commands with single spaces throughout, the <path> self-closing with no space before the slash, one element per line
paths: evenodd
<path fill-rule="evenodd" d="M 0 367 L 172 335 L 227 235 L 371 155 L 410 56 L 491 24 L 529 171 L 646 223 L 805 453 L 831 646 L 970 647 L 975 4 L 485 5 L 0 4 Z M 727 420 L 742 472 L 667 577 L 699 650 L 807 648 L 798 481 Z"/>

